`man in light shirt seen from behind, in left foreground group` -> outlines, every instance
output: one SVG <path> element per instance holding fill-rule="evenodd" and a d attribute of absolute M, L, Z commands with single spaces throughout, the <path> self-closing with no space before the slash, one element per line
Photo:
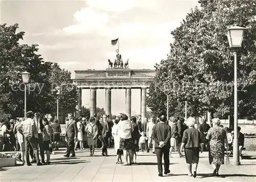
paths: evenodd
<path fill-rule="evenodd" d="M 28 166 L 32 166 L 29 161 L 29 149 L 30 147 L 33 148 L 33 152 L 36 158 L 36 165 L 41 166 L 42 164 L 39 161 L 39 155 L 38 155 L 38 133 L 36 130 L 35 121 L 32 119 L 34 117 L 34 114 L 32 111 L 27 112 L 27 119 L 22 122 L 23 126 L 23 134 L 25 139 L 25 152 L 26 152 L 26 161 Z"/>

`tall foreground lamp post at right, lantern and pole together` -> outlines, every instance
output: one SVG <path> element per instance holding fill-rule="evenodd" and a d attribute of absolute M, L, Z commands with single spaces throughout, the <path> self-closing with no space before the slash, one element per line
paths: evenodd
<path fill-rule="evenodd" d="M 230 48 L 242 46 L 244 27 L 230 27 L 227 29 L 227 38 Z M 234 51 L 234 140 L 233 140 L 233 164 L 240 165 L 238 146 L 238 83 L 237 83 L 237 52 Z"/>

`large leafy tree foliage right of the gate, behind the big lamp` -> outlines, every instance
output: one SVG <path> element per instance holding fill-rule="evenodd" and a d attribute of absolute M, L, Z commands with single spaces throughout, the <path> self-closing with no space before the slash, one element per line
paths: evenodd
<path fill-rule="evenodd" d="M 233 114 L 233 54 L 226 37 L 230 26 L 247 27 L 238 54 L 239 117 L 256 114 L 256 5 L 253 1 L 205 1 L 196 7 L 171 34 L 167 60 L 157 65 L 148 103 L 153 110 L 188 102 L 189 115 L 205 111 L 220 116 Z M 153 89 L 153 87 L 160 87 Z M 245 87 L 245 88 L 244 88 Z M 178 108 L 178 107 L 177 107 Z M 177 110 L 177 109 L 176 109 Z M 256 116 L 255 116 L 256 117 Z"/>

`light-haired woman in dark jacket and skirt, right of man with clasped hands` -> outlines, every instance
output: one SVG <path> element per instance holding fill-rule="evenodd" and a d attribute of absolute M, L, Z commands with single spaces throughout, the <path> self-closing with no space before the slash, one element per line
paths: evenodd
<path fill-rule="evenodd" d="M 203 143 L 201 141 L 200 132 L 194 128 L 196 120 L 194 118 L 188 118 L 186 124 L 188 129 L 183 133 L 182 143 L 180 151 L 185 147 L 185 157 L 188 168 L 188 176 L 197 176 L 197 165 L 199 162 L 199 151 L 203 152 Z"/>

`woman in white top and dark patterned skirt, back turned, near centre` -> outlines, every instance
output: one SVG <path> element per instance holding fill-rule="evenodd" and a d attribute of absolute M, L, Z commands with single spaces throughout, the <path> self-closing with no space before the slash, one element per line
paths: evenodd
<path fill-rule="evenodd" d="M 131 121 L 128 120 L 128 117 L 124 114 L 120 117 L 121 121 L 119 121 L 118 126 L 120 128 L 119 130 L 119 137 L 120 137 L 120 143 L 119 147 L 120 149 L 124 150 L 124 158 L 125 158 L 125 166 L 132 165 L 132 158 L 133 158 L 133 139 L 132 139 L 132 132 L 133 132 L 133 125 Z M 128 154 L 129 154 L 129 161 L 128 163 Z"/>

